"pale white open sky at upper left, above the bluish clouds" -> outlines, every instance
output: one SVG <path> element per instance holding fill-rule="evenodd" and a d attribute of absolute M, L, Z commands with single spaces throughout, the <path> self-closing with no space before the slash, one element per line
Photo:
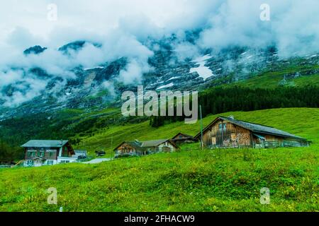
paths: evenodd
<path fill-rule="evenodd" d="M 47 20 L 49 4 L 57 6 L 56 21 Z M 125 20 L 149 23 L 159 30 L 188 29 L 207 18 L 214 5 L 214 1 L 202 0 L 12 0 L 1 2 L 0 40 L 9 42 L 15 29 L 26 28 L 35 37 L 21 41 L 21 45 L 48 41 L 59 44 L 81 33 L 83 37 L 105 35 Z M 138 29 L 143 32 L 145 28 Z"/>

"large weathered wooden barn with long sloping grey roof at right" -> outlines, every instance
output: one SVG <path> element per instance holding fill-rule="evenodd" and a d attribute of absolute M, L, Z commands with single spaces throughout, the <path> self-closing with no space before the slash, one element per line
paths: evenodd
<path fill-rule="evenodd" d="M 201 141 L 201 132 L 194 138 Z M 206 148 L 277 148 L 308 146 L 305 138 L 270 126 L 217 117 L 203 129 L 203 147 Z"/>

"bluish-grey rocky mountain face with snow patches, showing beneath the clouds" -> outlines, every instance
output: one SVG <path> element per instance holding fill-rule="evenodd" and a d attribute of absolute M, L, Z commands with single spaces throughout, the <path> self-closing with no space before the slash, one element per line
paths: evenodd
<path fill-rule="evenodd" d="M 250 47 L 228 47 L 215 53 L 212 49 L 201 49 L 201 56 L 192 59 L 179 59 L 173 51 L 172 45 L 176 38 L 167 37 L 162 40 L 148 40 L 145 45 L 154 52 L 148 59 L 152 70 L 142 75 L 142 85 L 146 90 L 201 90 L 204 88 L 240 81 L 260 73 L 265 69 L 272 71 L 280 66 L 290 64 L 291 61 L 279 60 L 275 47 L 266 49 L 252 49 Z M 196 32 L 186 36 L 188 42 L 196 40 Z M 65 54 L 70 49 L 77 51 L 84 47 L 85 41 L 77 41 L 60 47 Z M 94 44 L 101 47 L 99 44 Z M 155 48 L 155 45 L 157 46 Z M 26 49 L 25 54 L 40 54 L 46 48 L 35 46 Z M 197 59 L 203 57 L 205 60 Z M 208 56 L 209 55 L 209 56 Z M 309 57 L 293 64 L 318 64 L 319 57 Z M 72 69 L 75 78 L 65 81 L 63 78 L 53 77 L 40 68 L 25 71 L 47 82 L 45 90 L 40 95 L 16 108 L 2 106 L 4 100 L 0 98 L 0 119 L 12 117 L 17 114 L 33 114 L 37 112 L 55 111 L 63 108 L 91 108 L 107 107 L 118 103 L 121 93 L 125 90 L 136 91 L 138 84 L 124 85 L 119 75 L 128 66 L 128 59 L 122 57 L 116 61 L 96 65 L 92 69 L 82 66 Z M 191 72 L 192 71 L 194 72 Z M 211 71 L 212 75 L 201 76 L 200 72 Z M 198 71 L 198 72 L 196 72 Z M 315 71 L 287 74 L 285 79 L 296 76 L 306 76 Z M 283 77 L 284 79 L 284 77 Z M 18 82 L 18 81 L 17 81 Z M 23 90 L 22 90 L 23 91 Z M 10 96 L 14 88 L 6 86 L 1 93 Z"/>

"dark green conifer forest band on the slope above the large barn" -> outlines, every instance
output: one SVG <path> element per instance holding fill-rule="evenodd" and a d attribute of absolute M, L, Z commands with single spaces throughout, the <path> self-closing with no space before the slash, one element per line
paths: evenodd
<path fill-rule="evenodd" d="M 208 114 L 234 111 L 319 107 L 319 88 L 311 85 L 303 88 L 281 87 L 274 89 L 243 88 L 240 86 L 213 88 L 199 94 L 198 105 L 201 105 L 203 117 Z M 151 117 L 150 125 L 159 127 L 175 121 L 184 121 L 184 117 Z"/>

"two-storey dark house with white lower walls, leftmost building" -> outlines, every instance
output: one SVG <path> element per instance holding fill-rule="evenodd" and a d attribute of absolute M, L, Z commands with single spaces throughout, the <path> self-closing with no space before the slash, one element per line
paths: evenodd
<path fill-rule="evenodd" d="M 24 166 L 55 165 L 76 162 L 72 145 L 69 141 L 32 140 L 23 144 L 25 150 Z"/>

